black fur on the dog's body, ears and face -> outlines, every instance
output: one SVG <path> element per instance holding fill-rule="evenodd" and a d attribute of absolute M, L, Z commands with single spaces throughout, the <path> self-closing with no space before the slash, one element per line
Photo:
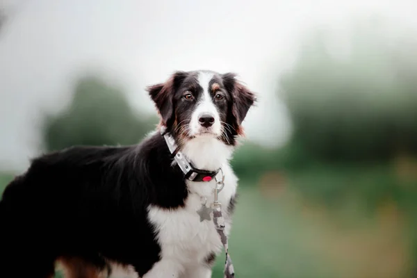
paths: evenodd
<path fill-rule="evenodd" d="M 214 81 L 225 96 L 218 103 L 224 121 L 235 119 L 236 129 L 228 133 L 234 144 L 236 119 L 244 117 L 254 96 L 236 95 L 240 87 L 229 78 L 216 74 Z M 149 88 L 161 124 L 171 131 L 190 110 L 183 90 L 198 94 L 194 79 L 195 72 L 177 72 Z M 108 267 L 106 260 L 115 261 L 144 275 L 161 251 L 147 207 L 175 209 L 188 197 L 183 173 L 171 163 L 158 132 L 138 145 L 76 146 L 33 159 L 0 201 L 0 277 L 50 277 L 60 257 L 81 258 L 101 270 Z M 233 208 L 231 199 L 229 211 Z M 213 260 L 208 254 L 207 262 Z"/>

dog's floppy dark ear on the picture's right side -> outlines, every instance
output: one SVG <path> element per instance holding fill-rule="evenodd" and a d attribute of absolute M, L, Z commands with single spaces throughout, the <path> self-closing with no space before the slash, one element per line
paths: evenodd
<path fill-rule="evenodd" d="M 222 79 L 224 88 L 229 92 L 232 99 L 230 115 L 234 123 L 234 129 L 236 129 L 238 135 L 243 135 L 241 124 L 245 120 L 249 108 L 256 102 L 256 96 L 254 92 L 236 79 L 236 74 L 222 74 Z"/>

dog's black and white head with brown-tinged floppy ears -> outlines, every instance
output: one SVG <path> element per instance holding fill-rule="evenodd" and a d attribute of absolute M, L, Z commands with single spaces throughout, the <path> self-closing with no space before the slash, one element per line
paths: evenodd
<path fill-rule="evenodd" d="M 210 71 L 175 72 L 165 83 L 147 88 L 161 115 L 161 124 L 180 143 L 211 137 L 235 145 L 241 126 L 256 101 L 236 74 Z"/>

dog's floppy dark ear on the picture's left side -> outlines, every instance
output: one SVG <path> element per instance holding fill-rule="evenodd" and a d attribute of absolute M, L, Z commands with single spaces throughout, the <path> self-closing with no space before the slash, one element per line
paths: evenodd
<path fill-rule="evenodd" d="M 175 72 L 165 83 L 150 85 L 146 89 L 165 126 L 171 124 L 174 119 L 174 94 L 186 74 L 186 72 Z"/>

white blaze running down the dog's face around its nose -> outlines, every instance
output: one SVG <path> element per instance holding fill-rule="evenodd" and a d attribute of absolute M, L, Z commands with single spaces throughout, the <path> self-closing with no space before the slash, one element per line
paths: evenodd
<path fill-rule="evenodd" d="M 203 126 L 199 124 L 199 117 L 202 115 L 211 115 L 214 117 L 214 123 L 210 127 L 209 131 L 220 136 L 222 125 L 220 124 L 220 115 L 216 106 L 213 103 L 213 97 L 210 93 L 209 84 L 211 79 L 213 79 L 212 73 L 199 72 L 198 74 L 198 83 L 203 88 L 202 95 L 197 99 L 197 106 L 193 115 L 191 116 L 191 133 L 194 135 L 200 131 L 206 130 Z"/>

